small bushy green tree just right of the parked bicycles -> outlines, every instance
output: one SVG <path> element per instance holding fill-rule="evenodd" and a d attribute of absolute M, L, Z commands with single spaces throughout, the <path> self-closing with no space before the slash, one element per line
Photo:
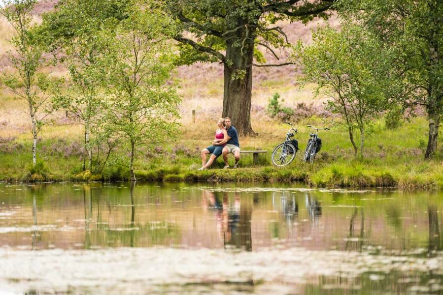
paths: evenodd
<path fill-rule="evenodd" d="M 299 42 L 295 59 L 300 62 L 304 82 L 316 83 L 331 98 L 327 108 L 343 118 L 357 154 L 353 130 L 361 134 L 360 152 L 368 124 L 386 108 L 390 91 L 392 54 L 363 28 L 343 24 L 341 32 L 326 27 L 313 33 L 313 43 Z"/>

